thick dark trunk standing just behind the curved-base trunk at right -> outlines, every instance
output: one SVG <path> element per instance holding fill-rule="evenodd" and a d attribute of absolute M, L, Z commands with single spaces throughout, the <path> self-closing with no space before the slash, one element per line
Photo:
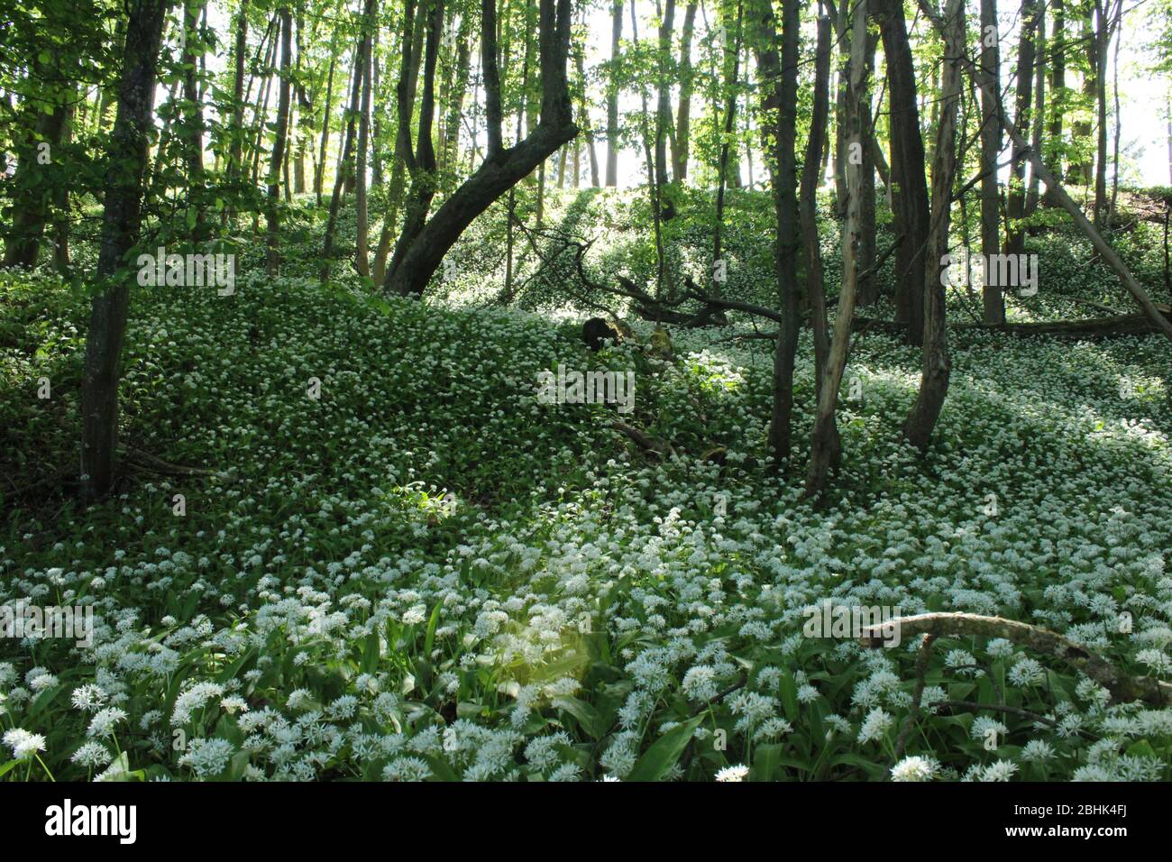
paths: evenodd
<path fill-rule="evenodd" d="M 907 326 L 908 341 L 919 345 L 924 340 L 928 186 L 924 178 L 924 137 L 915 94 L 915 67 L 907 41 L 902 0 L 878 0 L 877 18 L 887 59 L 892 182 L 899 189 L 895 230 L 904 237 L 895 250 L 895 320 Z"/>

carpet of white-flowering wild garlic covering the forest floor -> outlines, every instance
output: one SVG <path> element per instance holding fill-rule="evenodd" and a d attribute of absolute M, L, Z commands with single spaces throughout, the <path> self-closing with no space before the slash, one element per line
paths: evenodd
<path fill-rule="evenodd" d="M 1130 311 L 1063 259 L 1018 319 Z M 938 640 L 895 763 L 917 643 L 809 637 L 825 599 L 970 611 L 1172 678 L 1163 338 L 958 333 L 921 457 L 899 435 L 919 352 L 860 337 L 819 508 L 809 331 L 778 478 L 771 342 L 735 340 L 735 315 L 673 330 L 670 360 L 648 324 L 592 354 L 590 314 L 548 303 L 241 269 L 232 296 L 136 293 L 129 471 L 90 508 L 68 484 L 84 294 L 0 273 L 0 602 L 95 609 L 93 647 L 0 642 L 0 728 L 43 737 L 43 762 L 6 751 L 0 775 L 1172 779 L 1172 710 L 1000 639 Z M 633 412 L 540 403 L 559 364 L 638 371 Z"/>

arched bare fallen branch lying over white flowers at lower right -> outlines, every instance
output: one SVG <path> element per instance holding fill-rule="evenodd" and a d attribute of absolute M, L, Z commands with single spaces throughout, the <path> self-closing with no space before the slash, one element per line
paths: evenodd
<path fill-rule="evenodd" d="M 1086 652 L 1061 634 L 1028 623 L 1003 617 L 982 617 L 976 613 L 920 613 L 868 626 L 863 630 L 859 643 L 872 649 L 883 646 L 887 637 L 884 632 L 890 632 L 893 625 L 898 626 L 900 638 L 917 634 L 1004 638 L 1062 659 L 1111 692 L 1115 700 L 1143 700 L 1157 706 L 1172 704 L 1172 683 L 1151 677 L 1129 676 L 1106 659 Z"/>

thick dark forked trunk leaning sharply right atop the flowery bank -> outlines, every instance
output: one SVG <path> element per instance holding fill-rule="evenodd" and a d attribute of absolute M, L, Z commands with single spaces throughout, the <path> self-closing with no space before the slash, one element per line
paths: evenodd
<path fill-rule="evenodd" d="M 397 266 L 388 267 L 390 292 L 422 296 L 443 256 L 464 229 L 495 201 L 578 134 L 573 122 L 566 57 L 570 53 L 571 0 L 540 0 L 540 120 L 524 141 L 505 148 L 502 141 L 500 76 L 496 60 L 496 1 L 482 2 L 483 72 L 488 118 L 484 162 L 415 235 Z"/>

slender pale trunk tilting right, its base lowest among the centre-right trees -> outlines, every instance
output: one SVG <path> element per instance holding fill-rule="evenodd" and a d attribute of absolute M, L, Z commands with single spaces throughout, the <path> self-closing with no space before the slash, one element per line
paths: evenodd
<path fill-rule="evenodd" d="M 881 0 L 880 0 L 881 1 Z M 902 15 L 902 8 L 900 8 Z M 844 23 L 845 28 L 845 23 Z M 867 0 L 858 0 L 851 18 L 851 60 L 847 67 L 847 94 L 844 121 L 844 150 L 851 144 L 863 145 L 863 117 L 860 104 L 866 93 L 866 41 Z M 851 320 L 854 317 L 854 300 L 858 296 L 858 250 L 863 228 L 863 163 L 847 158 L 845 171 L 845 220 L 843 223 L 843 281 L 838 294 L 838 315 L 834 334 L 830 341 L 822 382 L 818 388 L 818 408 L 815 414 L 813 433 L 810 439 L 810 466 L 806 470 L 805 494 L 817 496 L 826 487 L 826 475 L 840 453 L 838 426 L 834 412 L 838 406 L 838 389 L 846 371 L 846 355 L 851 347 Z M 809 240 L 808 240 L 809 242 Z M 905 240 L 906 242 L 906 240 Z"/>

